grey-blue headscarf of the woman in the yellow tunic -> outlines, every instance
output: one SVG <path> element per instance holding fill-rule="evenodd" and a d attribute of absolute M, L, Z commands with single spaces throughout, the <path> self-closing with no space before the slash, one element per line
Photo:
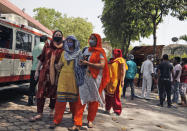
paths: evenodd
<path fill-rule="evenodd" d="M 71 39 L 74 41 L 75 49 L 71 51 L 68 47 L 67 40 Z M 74 72 L 75 72 L 75 78 L 76 78 L 76 84 L 77 86 L 81 86 L 84 83 L 84 75 L 85 75 L 85 69 L 82 68 L 79 65 L 79 60 L 81 59 L 81 50 L 80 50 L 80 43 L 76 39 L 75 36 L 68 36 L 64 43 L 64 58 L 67 61 L 74 60 Z"/>

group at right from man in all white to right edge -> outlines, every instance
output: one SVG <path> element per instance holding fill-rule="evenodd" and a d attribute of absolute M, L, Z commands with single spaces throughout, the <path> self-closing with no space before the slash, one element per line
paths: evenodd
<path fill-rule="evenodd" d="M 187 58 L 183 58 L 182 61 L 180 57 L 169 60 L 168 55 L 164 54 L 160 62 L 154 65 L 153 56 L 148 55 L 147 60 L 141 66 L 141 73 L 143 75 L 141 98 L 150 100 L 152 87 L 157 87 L 160 98 L 159 106 L 164 106 L 166 97 L 168 108 L 171 108 L 172 104 L 187 106 Z M 181 103 L 179 103 L 179 94 Z"/>

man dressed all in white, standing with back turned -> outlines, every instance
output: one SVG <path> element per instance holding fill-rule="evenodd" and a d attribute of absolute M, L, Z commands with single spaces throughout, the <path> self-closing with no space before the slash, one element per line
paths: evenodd
<path fill-rule="evenodd" d="M 147 56 L 147 60 L 145 60 L 141 66 L 141 73 L 143 74 L 143 83 L 142 83 L 142 98 L 147 100 L 150 99 L 151 86 L 152 86 L 152 77 L 153 77 L 153 63 L 151 61 L 152 55 Z M 146 96 L 145 96 L 145 90 Z"/>

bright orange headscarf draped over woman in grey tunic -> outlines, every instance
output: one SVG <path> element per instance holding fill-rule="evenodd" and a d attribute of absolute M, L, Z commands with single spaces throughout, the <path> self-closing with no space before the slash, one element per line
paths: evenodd
<path fill-rule="evenodd" d="M 110 78 L 109 78 L 109 70 L 108 70 L 108 64 L 107 64 L 107 58 L 106 58 L 106 53 L 104 51 L 104 49 L 102 48 L 102 40 L 101 40 L 101 36 L 99 34 L 92 34 L 97 38 L 97 45 L 96 47 L 89 47 L 89 51 L 92 52 L 92 55 L 90 57 L 90 62 L 91 63 L 99 63 L 100 61 L 100 54 L 102 54 L 104 56 L 104 60 L 105 60 L 105 66 L 103 68 L 103 72 L 102 72 L 102 81 L 99 87 L 99 93 L 102 92 L 102 90 L 106 87 L 106 85 L 108 84 Z M 92 77 L 94 79 L 97 78 L 98 74 L 99 74 L 99 69 L 93 68 L 93 67 L 89 67 L 90 73 L 92 75 Z"/>

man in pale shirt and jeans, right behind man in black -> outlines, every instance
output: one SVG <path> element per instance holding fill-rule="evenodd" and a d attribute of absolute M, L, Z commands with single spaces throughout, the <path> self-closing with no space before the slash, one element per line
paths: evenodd
<path fill-rule="evenodd" d="M 174 76 L 173 76 L 173 103 L 178 103 L 179 99 L 179 86 L 180 86 L 180 77 L 182 73 L 182 66 L 180 65 L 180 57 L 174 58 Z"/>

